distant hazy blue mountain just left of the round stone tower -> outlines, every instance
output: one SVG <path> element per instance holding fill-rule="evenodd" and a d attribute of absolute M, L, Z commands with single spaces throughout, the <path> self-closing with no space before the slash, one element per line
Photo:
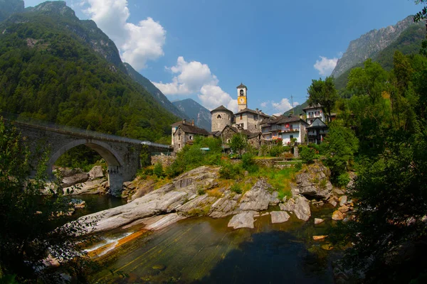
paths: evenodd
<path fill-rule="evenodd" d="M 211 131 L 211 111 L 209 109 L 206 109 L 206 107 L 203 107 L 193 99 L 183 99 L 172 104 L 186 114 L 189 119 L 194 119 L 196 126 Z"/>

